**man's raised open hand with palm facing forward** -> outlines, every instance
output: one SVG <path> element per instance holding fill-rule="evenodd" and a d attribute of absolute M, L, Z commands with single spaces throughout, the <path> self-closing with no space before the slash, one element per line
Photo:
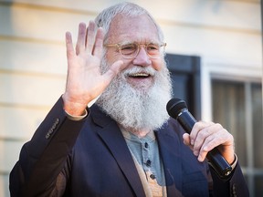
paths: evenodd
<path fill-rule="evenodd" d="M 101 75 L 100 60 L 103 49 L 103 30 L 96 31 L 95 23 L 79 24 L 79 35 L 74 50 L 71 34 L 66 33 L 68 58 L 68 78 L 62 98 L 64 109 L 74 116 L 83 114 L 92 99 L 96 99 L 123 68 L 121 60 L 113 63 L 109 70 Z"/>

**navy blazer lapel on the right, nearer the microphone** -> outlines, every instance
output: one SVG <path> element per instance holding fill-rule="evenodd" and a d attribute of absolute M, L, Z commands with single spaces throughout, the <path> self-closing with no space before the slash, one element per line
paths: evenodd
<path fill-rule="evenodd" d="M 182 161 L 180 158 L 180 142 L 174 130 L 167 125 L 156 131 L 166 181 L 167 196 L 183 196 Z"/>

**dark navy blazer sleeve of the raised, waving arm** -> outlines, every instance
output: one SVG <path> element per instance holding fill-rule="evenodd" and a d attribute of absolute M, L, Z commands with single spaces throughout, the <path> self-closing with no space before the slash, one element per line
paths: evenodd
<path fill-rule="evenodd" d="M 9 177 L 11 196 L 49 196 L 86 119 L 68 119 L 58 99 L 20 152 Z"/>

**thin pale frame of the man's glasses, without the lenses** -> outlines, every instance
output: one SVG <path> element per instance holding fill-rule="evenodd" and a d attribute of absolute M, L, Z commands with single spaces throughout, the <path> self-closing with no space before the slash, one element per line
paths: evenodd
<path fill-rule="evenodd" d="M 121 54 L 121 56 L 122 56 L 123 58 L 127 58 L 127 59 L 132 59 L 132 58 L 137 57 L 138 54 L 139 54 L 139 52 L 140 52 L 140 50 L 141 50 L 141 46 L 144 47 L 144 49 L 145 49 L 146 54 L 147 54 L 148 57 L 150 57 L 150 58 L 160 58 L 161 56 L 159 56 L 159 57 L 151 57 L 151 55 L 148 54 L 148 51 L 147 51 L 146 47 L 149 46 L 149 45 L 151 45 L 151 44 L 152 44 L 152 45 L 158 45 L 159 48 L 163 47 L 163 54 L 164 54 L 164 50 L 165 50 L 165 47 L 166 47 L 166 43 L 162 43 L 162 44 L 153 44 L 153 43 L 139 44 L 139 43 L 136 43 L 136 42 L 135 42 L 135 43 L 130 43 L 130 44 L 134 44 L 134 45 L 136 45 L 137 48 L 138 48 L 137 51 L 136 51 L 136 53 L 135 53 L 132 57 L 125 57 L 125 56 L 121 53 L 121 47 L 124 46 L 124 45 L 129 45 L 129 43 L 128 43 L 128 44 L 123 44 L 123 43 L 105 44 L 105 45 L 103 45 L 103 47 L 118 47 L 118 50 L 119 50 L 119 53 Z"/>

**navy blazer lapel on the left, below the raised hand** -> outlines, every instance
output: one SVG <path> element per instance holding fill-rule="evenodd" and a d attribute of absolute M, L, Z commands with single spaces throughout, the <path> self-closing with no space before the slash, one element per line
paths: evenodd
<path fill-rule="evenodd" d="M 138 171 L 136 170 L 134 161 L 132 160 L 132 154 L 127 147 L 117 123 L 113 119 L 110 119 L 109 116 L 102 113 L 98 106 L 93 106 L 91 110 L 94 122 L 101 128 L 101 130 L 97 130 L 97 133 L 108 146 L 112 156 L 118 162 L 121 171 L 130 182 L 133 192 L 136 196 L 145 196 L 142 182 Z"/>

